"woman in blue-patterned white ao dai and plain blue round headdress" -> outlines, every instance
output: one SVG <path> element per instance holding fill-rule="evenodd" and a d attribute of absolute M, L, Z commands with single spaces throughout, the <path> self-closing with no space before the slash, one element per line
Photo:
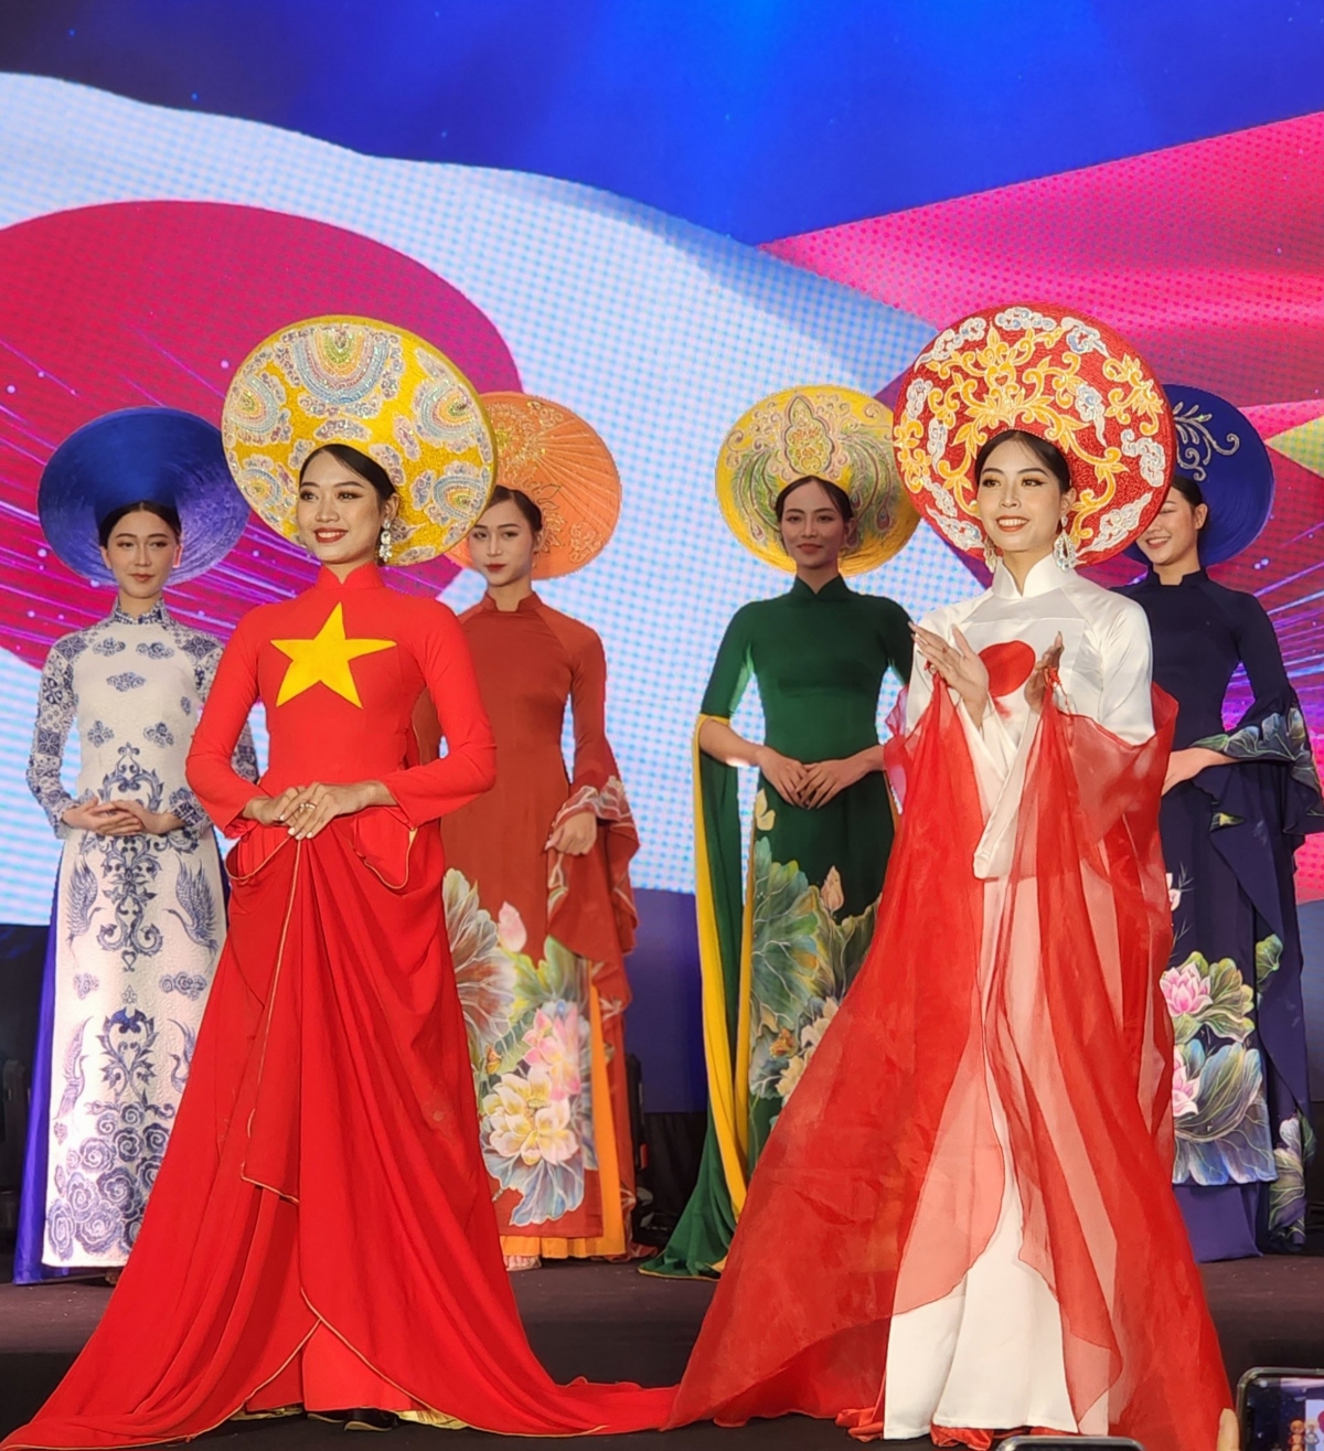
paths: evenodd
<path fill-rule="evenodd" d="M 181 528 L 197 573 L 247 519 L 219 431 L 173 409 L 106 415 L 71 435 L 46 466 L 39 506 L 57 553 L 84 577 L 112 577 L 117 599 L 107 618 L 51 647 L 28 765 L 64 849 L 16 1283 L 116 1277 L 189 1078 L 225 942 L 225 897 L 216 837 L 184 760 L 222 641 L 174 620 L 162 589 L 181 559 Z M 70 791 L 62 772 L 74 731 Z M 235 765 L 257 779 L 247 731 Z"/>

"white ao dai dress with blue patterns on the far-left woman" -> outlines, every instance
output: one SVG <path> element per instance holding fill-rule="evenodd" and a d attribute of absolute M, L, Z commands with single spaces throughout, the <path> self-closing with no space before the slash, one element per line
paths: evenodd
<path fill-rule="evenodd" d="M 51 923 L 41 1252 L 49 1267 L 125 1262 L 189 1077 L 225 904 L 216 839 L 184 757 L 220 649 L 158 599 L 138 617 L 116 605 L 58 640 L 42 670 L 28 781 L 64 839 Z M 71 795 L 61 766 L 75 724 L 81 766 Z M 257 779 L 247 737 L 239 756 L 236 769 Z M 64 814 L 93 797 L 138 801 L 183 826 L 132 836 L 67 826 Z M 33 1097 L 42 1088 L 36 1082 Z"/>

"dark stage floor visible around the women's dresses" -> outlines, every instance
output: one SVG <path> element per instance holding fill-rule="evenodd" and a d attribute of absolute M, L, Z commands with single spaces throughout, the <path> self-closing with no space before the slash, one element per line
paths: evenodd
<path fill-rule="evenodd" d="M 1250 1365 L 1324 1364 L 1324 1258 L 1243 1259 L 1205 1267 L 1209 1304 L 1222 1339 L 1228 1374 Z M 709 1284 L 650 1280 L 634 1265 L 568 1264 L 516 1275 L 519 1307 L 529 1339 L 557 1380 L 637 1380 L 658 1386 L 676 1380 L 712 1294 Z M 104 1286 L 0 1284 L 0 1431 L 26 1421 L 55 1386 L 86 1341 L 110 1296 Z M 1180 1354 L 1173 1347 L 1173 1354 Z M 345 1432 L 316 1421 L 258 1421 L 226 1426 L 209 1441 L 231 1451 L 309 1451 Z M 445 1438 L 441 1442 L 438 1438 Z M 615 1444 L 657 1445 L 654 1436 L 622 1436 Z M 486 1444 L 473 1431 L 400 1426 L 392 1451 L 444 1445 L 448 1451 Z M 526 1439 L 526 1447 L 564 1441 Z M 787 1416 L 741 1431 L 689 1426 L 667 1435 L 674 1451 L 795 1447 L 845 1451 L 853 1442 L 834 1425 Z M 928 1445 L 928 1442 L 915 1442 Z"/>

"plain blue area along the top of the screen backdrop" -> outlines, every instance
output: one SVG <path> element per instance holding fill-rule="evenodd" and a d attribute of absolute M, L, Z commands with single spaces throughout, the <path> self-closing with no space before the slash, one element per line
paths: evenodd
<path fill-rule="evenodd" d="M 0 70 L 763 242 L 1324 104 L 1314 0 L 7 0 Z"/>

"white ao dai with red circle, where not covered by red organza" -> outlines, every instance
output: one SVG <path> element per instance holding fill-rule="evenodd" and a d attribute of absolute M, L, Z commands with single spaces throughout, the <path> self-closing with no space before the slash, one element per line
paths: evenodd
<path fill-rule="evenodd" d="M 1025 762 L 1038 721 L 1025 698 L 1025 683 L 1035 662 L 1050 656 L 1060 641 L 1059 704 L 1140 744 L 1154 733 L 1149 622 L 1133 601 L 1073 569 L 1063 570 L 1050 554 L 1028 570 L 1024 589 L 999 562 L 988 591 L 943 607 L 919 628 L 946 641 L 954 654 L 960 654 L 957 638 L 963 637 L 988 672 L 990 704 L 979 726 L 967 708 L 960 711 L 986 821 L 975 858 L 975 874 L 986 884 L 986 978 L 992 932 L 1002 918 Z M 918 637 L 921 650 L 924 633 Z M 906 699 L 908 730 L 919 721 L 932 689 L 932 673 L 917 670 Z M 892 1322 L 886 1435 L 924 1436 L 934 1423 L 1048 1426 L 1106 1435 L 1106 1406 L 1093 1407 L 1079 1426 L 1072 1413 L 1057 1302 L 1043 1277 L 1019 1258 L 1021 1201 L 992 1075 L 989 1091 L 1006 1165 L 1002 1213 L 992 1241 L 961 1286 Z M 1030 1354 L 1027 1347 L 1033 1347 Z"/>

